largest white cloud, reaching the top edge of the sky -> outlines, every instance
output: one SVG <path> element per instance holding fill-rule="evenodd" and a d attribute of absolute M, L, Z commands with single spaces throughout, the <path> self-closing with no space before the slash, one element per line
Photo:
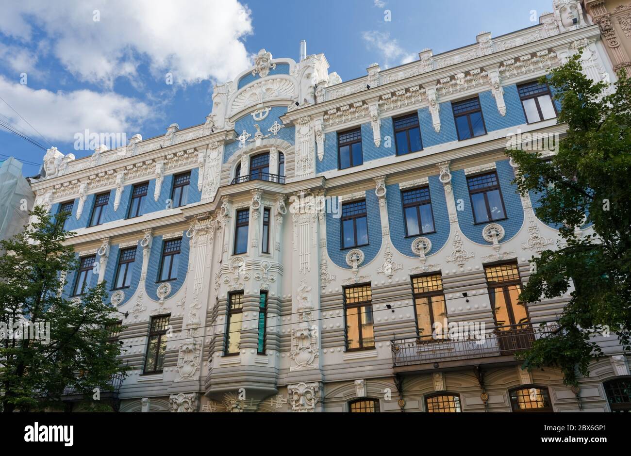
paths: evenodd
<path fill-rule="evenodd" d="M 133 79 L 148 62 L 156 79 L 172 73 L 186 84 L 223 82 L 245 69 L 241 38 L 252 33 L 252 20 L 237 0 L 33 0 L 3 4 L 0 32 L 29 46 L 50 42 L 61 64 L 91 83 Z"/>

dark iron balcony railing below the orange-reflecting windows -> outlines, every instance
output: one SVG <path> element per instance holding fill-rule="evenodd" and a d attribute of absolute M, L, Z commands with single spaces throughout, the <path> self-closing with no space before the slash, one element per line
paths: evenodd
<path fill-rule="evenodd" d="M 482 330 L 391 341 L 392 364 L 411 366 L 439 361 L 457 361 L 504 356 L 532 348 L 533 342 L 548 337 L 557 326 L 533 327 L 530 324 L 490 327 Z"/>

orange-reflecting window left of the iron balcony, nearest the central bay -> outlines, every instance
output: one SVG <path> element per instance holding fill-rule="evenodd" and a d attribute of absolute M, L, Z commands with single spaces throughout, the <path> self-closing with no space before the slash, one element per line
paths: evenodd
<path fill-rule="evenodd" d="M 346 350 L 374 348 L 375 332 L 370 284 L 345 288 L 344 309 Z"/>

